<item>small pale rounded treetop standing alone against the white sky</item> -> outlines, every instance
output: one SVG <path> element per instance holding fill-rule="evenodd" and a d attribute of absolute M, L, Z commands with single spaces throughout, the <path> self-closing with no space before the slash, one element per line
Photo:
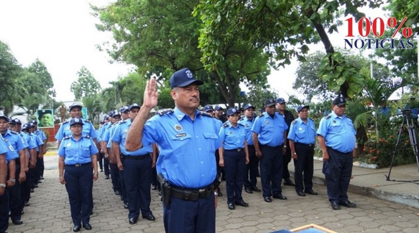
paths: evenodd
<path fill-rule="evenodd" d="M 77 81 L 71 83 L 70 86 L 70 91 L 73 92 L 76 100 L 81 100 L 83 97 L 95 96 L 100 91 L 100 83 L 97 82 L 86 67 L 81 67 L 77 71 L 77 76 Z"/>

